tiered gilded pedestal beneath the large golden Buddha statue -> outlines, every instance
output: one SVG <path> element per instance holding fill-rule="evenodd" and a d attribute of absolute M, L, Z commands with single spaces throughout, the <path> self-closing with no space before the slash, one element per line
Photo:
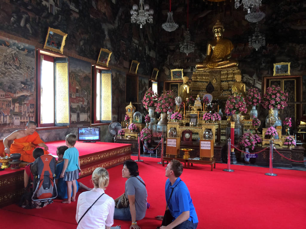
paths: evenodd
<path fill-rule="evenodd" d="M 232 85 L 235 80 L 235 75 L 241 75 L 238 67 L 232 67 L 227 69 L 208 69 L 208 70 L 196 70 L 192 74 L 192 82 L 190 84 L 191 96 L 203 97 L 207 93 L 206 87 L 211 82 L 214 87 L 211 93 L 214 99 L 227 99 L 231 94 Z"/>

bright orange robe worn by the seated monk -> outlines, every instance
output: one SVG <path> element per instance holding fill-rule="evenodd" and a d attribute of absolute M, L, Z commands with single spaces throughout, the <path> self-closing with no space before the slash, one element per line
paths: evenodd
<path fill-rule="evenodd" d="M 24 162 L 34 162 L 33 150 L 38 146 L 38 144 L 44 143 L 40 139 L 38 133 L 35 131 L 33 134 L 14 139 L 14 142 L 11 144 L 9 151 L 11 154 L 20 153 L 21 161 Z M 39 146 L 38 146 L 39 147 Z M 43 150 L 44 154 L 49 154 L 48 151 Z"/>

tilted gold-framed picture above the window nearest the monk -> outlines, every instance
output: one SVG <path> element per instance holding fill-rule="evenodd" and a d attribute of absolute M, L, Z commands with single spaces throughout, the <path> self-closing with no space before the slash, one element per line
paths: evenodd
<path fill-rule="evenodd" d="M 65 40 L 68 34 L 60 31 L 59 29 L 48 28 L 48 33 L 43 45 L 43 49 L 49 49 L 53 52 L 63 54 Z"/>

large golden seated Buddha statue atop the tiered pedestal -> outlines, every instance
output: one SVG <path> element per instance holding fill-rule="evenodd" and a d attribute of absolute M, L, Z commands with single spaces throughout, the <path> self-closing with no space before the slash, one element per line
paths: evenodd
<path fill-rule="evenodd" d="M 206 58 L 203 62 L 196 63 L 197 69 L 223 69 L 237 67 L 238 62 L 231 60 L 232 42 L 223 38 L 223 25 L 218 20 L 212 28 L 214 40 L 207 43 Z"/>

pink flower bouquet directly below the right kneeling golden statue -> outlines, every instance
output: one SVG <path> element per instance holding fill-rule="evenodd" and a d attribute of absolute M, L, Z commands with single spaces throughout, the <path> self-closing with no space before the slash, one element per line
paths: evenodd
<path fill-rule="evenodd" d="M 225 113 L 227 115 L 230 115 L 230 113 L 239 114 L 239 112 L 247 113 L 247 111 L 248 109 L 241 93 L 234 93 L 226 100 Z"/>

